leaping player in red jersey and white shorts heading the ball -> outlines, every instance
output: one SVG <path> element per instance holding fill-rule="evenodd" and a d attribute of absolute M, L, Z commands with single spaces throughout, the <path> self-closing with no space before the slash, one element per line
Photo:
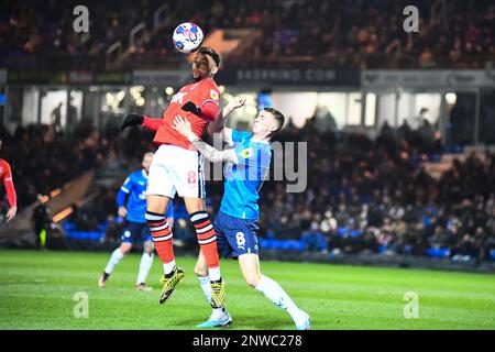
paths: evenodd
<path fill-rule="evenodd" d="M 173 129 L 174 117 L 178 113 L 185 113 L 191 121 L 193 133 L 198 136 L 202 135 L 209 122 L 216 120 L 220 91 L 213 76 L 219 66 L 220 55 L 215 50 L 199 48 L 193 61 L 194 82 L 186 85 L 174 96 L 163 119 L 130 114 L 122 124 L 122 129 L 143 125 L 156 131 L 154 142 L 160 145 L 150 168 L 146 220 L 164 268 L 164 276 L 161 279 L 163 285 L 161 304 L 166 301 L 184 277 L 184 271 L 175 265 L 173 233 L 165 219 L 165 209 L 176 193 L 184 198 L 205 255 L 211 280 L 211 305 L 219 308 L 224 302 L 217 238 L 205 205 L 202 156 L 194 146 L 191 147 L 191 143 L 184 135 Z"/>

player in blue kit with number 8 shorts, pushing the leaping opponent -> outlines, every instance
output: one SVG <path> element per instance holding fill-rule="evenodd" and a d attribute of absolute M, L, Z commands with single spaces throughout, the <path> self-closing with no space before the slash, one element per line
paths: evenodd
<path fill-rule="evenodd" d="M 213 222 L 220 256 L 238 258 L 246 284 L 287 311 L 293 318 L 296 329 L 309 330 L 310 317 L 308 314 L 296 306 L 280 285 L 261 273 L 257 255 L 258 193 L 270 172 L 271 140 L 282 129 L 285 119 L 279 111 L 265 108 L 254 119 L 252 132 L 240 132 L 226 128 L 227 117 L 243 103 L 244 101 L 241 99 L 231 101 L 216 122 L 208 128 L 210 134 L 222 133 L 223 141 L 231 146 L 229 150 L 218 151 L 199 140 L 191 132 L 189 121 L 180 116 L 175 117 L 174 129 L 185 135 L 210 162 L 226 162 L 224 194 Z M 207 300 L 210 301 L 208 267 L 201 252 L 195 273 Z M 210 318 L 198 324 L 198 328 L 224 327 L 231 322 L 232 318 L 224 307 L 213 308 Z"/>

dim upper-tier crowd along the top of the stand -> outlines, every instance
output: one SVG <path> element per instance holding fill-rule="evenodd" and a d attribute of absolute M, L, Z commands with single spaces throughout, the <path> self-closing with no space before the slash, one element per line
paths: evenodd
<path fill-rule="evenodd" d="M 153 14 L 162 1 L 87 1 L 89 33 L 73 30 L 72 9 L 78 3 L 22 1 L 2 3 L 0 55 L 3 57 L 59 55 L 74 58 L 81 68 L 87 59 L 103 57 L 144 21 L 153 28 Z M 446 1 L 432 16 L 431 1 L 415 1 L 421 18 L 419 33 L 403 30 L 407 1 L 180 1 L 172 2 L 165 16 L 194 21 L 212 29 L 251 28 L 260 35 L 249 51 L 230 55 L 237 65 L 289 65 L 316 62 L 319 66 L 377 68 L 458 67 L 480 68 L 481 57 L 493 58 L 495 6 L 490 0 Z M 153 58 L 166 61 L 179 54 L 168 35 L 177 23 L 167 23 L 147 41 L 132 48 L 128 64 Z M 387 58 L 386 61 L 384 58 Z M 474 59 L 477 58 L 477 59 Z"/>

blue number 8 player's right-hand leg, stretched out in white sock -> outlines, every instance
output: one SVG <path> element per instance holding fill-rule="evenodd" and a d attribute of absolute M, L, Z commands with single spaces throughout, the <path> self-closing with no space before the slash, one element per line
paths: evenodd
<path fill-rule="evenodd" d="M 277 307 L 287 311 L 293 318 L 296 329 L 309 330 L 310 318 L 307 312 L 299 309 L 289 295 L 278 285 L 277 282 L 263 275 L 260 270 L 260 258 L 257 254 L 242 254 L 239 256 L 239 265 L 248 285 L 254 287 Z"/>

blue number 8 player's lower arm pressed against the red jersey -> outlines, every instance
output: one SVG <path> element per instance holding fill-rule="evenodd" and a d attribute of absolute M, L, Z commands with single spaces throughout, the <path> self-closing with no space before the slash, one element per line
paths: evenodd
<path fill-rule="evenodd" d="M 183 117 L 175 117 L 173 128 L 180 134 L 185 135 L 189 142 L 191 142 L 196 148 L 211 163 L 230 162 L 237 164 L 239 162 L 234 150 L 217 151 L 208 143 L 201 141 L 190 129 L 190 122 L 183 119 Z"/>

